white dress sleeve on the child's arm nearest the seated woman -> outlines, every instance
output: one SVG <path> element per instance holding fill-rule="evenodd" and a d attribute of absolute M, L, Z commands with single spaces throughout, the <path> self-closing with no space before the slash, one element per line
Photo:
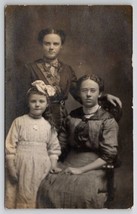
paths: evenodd
<path fill-rule="evenodd" d="M 50 137 L 48 142 L 48 154 L 50 158 L 55 158 L 58 160 L 59 155 L 61 154 L 61 147 L 57 137 L 57 132 L 54 128 L 51 128 Z"/>

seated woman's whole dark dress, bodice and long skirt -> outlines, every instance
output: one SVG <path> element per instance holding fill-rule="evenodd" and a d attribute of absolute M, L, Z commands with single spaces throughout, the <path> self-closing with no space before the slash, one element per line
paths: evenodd
<path fill-rule="evenodd" d="M 118 125 L 100 108 L 90 118 L 83 109 L 70 113 L 59 135 L 64 162 L 61 168 L 81 167 L 98 157 L 113 163 L 117 156 Z M 103 208 L 107 200 L 107 178 L 103 169 L 80 175 L 49 174 L 39 188 L 38 208 Z"/>

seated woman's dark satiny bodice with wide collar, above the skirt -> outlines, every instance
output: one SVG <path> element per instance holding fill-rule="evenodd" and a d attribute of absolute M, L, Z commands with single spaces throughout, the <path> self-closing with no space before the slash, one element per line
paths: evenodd
<path fill-rule="evenodd" d="M 111 114 L 99 109 L 86 118 L 83 109 L 70 113 L 59 135 L 62 151 L 94 151 L 102 159 L 112 161 L 117 154 L 118 125 Z"/>

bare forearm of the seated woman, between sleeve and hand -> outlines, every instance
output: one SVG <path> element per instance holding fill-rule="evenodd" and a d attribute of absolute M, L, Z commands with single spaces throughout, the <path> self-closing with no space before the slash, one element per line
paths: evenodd
<path fill-rule="evenodd" d="M 83 167 L 80 167 L 80 169 L 84 173 L 84 172 L 87 172 L 90 170 L 99 169 L 99 168 L 103 167 L 105 164 L 106 164 L 105 160 L 98 158 L 94 162 L 87 164 Z"/>

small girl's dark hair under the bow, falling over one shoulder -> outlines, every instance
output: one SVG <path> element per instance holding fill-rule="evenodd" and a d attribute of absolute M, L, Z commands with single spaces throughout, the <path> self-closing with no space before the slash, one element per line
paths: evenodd
<path fill-rule="evenodd" d="M 50 98 L 49 98 L 48 94 L 43 94 L 42 92 L 38 91 L 36 87 L 32 87 L 27 92 L 27 101 L 29 101 L 29 97 L 32 94 L 44 95 L 47 98 L 48 106 L 42 115 L 50 123 L 51 128 L 55 128 L 55 122 L 53 120 L 53 116 L 52 116 L 52 112 L 51 112 L 51 108 L 50 108 Z"/>

